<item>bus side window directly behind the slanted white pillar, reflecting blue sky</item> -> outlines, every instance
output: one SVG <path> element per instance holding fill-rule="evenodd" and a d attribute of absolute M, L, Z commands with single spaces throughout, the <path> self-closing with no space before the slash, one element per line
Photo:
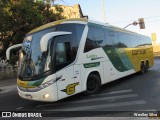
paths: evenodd
<path fill-rule="evenodd" d="M 88 52 L 100 46 L 105 46 L 104 31 L 100 27 L 89 26 L 84 52 Z"/>

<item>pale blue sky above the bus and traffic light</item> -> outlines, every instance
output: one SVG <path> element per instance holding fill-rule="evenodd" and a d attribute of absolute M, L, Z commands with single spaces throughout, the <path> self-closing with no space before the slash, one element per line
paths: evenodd
<path fill-rule="evenodd" d="M 80 4 L 84 15 L 89 19 L 124 28 L 139 18 L 144 18 L 146 29 L 129 26 L 126 29 L 151 37 L 156 33 L 160 43 L 160 0 L 57 0 L 55 4 Z M 105 13 L 105 19 L 104 14 Z"/>

